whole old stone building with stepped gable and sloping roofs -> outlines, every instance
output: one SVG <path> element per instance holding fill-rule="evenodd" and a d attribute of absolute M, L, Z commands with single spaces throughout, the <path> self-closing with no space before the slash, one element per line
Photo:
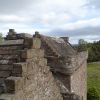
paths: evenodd
<path fill-rule="evenodd" d="M 68 37 L 10 29 L 0 43 L 0 100 L 86 100 L 87 56 Z"/>

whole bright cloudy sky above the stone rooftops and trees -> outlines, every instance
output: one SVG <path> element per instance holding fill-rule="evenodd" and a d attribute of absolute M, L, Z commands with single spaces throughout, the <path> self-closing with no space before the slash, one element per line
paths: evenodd
<path fill-rule="evenodd" d="M 0 32 L 70 37 L 88 42 L 100 39 L 100 0 L 0 0 Z"/>

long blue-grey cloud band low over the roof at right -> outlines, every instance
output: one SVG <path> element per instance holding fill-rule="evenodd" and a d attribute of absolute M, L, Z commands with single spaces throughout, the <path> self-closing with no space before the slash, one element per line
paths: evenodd
<path fill-rule="evenodd" d="M 80 29 L 74 30 L 66 30 L 66 29 L 55 29 L 50 31 L 49 35 L 56 35 L 53 33 L 57 33 L 58 36 L 69 36 L 69 37 L 80 37 L 80 36 L 99 36 L 100 35 L 100 26 L 98 27 L 84 27 Z"/>

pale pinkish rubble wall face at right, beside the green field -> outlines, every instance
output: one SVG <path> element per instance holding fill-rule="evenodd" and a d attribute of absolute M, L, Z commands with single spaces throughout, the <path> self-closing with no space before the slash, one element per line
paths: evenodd
<path fill-rule="evenodd" d="M 85 58 L 84 60 L 82 60 Z M 82 100 L 86 100 L 87 94 L 87 53 L 82 52 L 78 55 L 80 67 L 71 76 L 71 92 L 79 95 Z"/>

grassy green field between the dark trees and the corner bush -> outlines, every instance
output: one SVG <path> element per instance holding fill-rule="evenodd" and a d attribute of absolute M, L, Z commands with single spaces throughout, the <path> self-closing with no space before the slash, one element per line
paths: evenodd
<path fill-rule="evenodd" d="M 88 88 L 96 87 L 100 93 L 100 63 L 88 64 Z"/>

